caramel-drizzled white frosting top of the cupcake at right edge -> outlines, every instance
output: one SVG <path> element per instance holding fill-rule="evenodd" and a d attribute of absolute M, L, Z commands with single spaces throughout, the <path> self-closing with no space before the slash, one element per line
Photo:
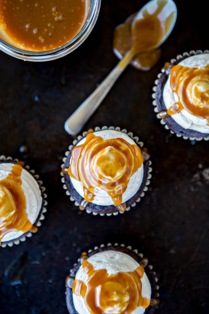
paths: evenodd
<path fill-rule="evenodd" d="M 170 68 L 163 89 L 167 114 L 185 129 L 209 133 L 208 91 L 209 53 L 185 58 Z"/>

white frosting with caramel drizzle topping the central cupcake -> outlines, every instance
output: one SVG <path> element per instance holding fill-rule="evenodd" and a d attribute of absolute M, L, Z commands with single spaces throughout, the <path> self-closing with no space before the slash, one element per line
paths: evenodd
<path fill-rule="evenodd" d="M 138 191 L 143 161 L 140 148 L 127 134 L 97 131 L 73 148 L 68 174 L 87 202 L 120 206 Z"/>

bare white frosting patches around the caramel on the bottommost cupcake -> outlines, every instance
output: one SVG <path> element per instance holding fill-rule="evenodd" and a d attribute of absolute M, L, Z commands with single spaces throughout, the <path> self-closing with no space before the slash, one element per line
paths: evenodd
<path fill-rule="evenodd" d="M 119 272 L 130 272 L 134 271 L 136 268 L 139 267 L 138 262 L 136 262 L 130 255 L 125 254 L 120 251 L 103 251 L 98 252 L 91 257 L 88 258 L 88 262 L 91 263 L 94 270 L 99 269 L 107 269 L 107 273 L 117 274 Z M 83 267 L 81 266 L 77 273 L 75 279 L 81 280 L 82 282 L 86 282 L 88 279 L 88 275 L 84 272 Z M 149 283 L 149 279 L 144 273 L 143 277 L 141 278 L 142 282 L 142 297 L 151 298 L 151 285 Z M 78 296 L 73 293 L 73 303 L 75 306 L 76 311 L 79 314 L 91 314 L 88 308 L 86 307 L 85 301 L 82 296 Z M 143 314 L 145 308 L 142 306 L 138 306 L 132 314 Z M 113 312 L 112 312 L 113 313 Z M 117 314 L 117 310 L 114 311 Z"/>

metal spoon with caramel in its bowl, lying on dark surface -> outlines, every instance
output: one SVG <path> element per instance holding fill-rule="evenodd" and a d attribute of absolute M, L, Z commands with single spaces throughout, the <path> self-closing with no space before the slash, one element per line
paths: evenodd
<path fill-rule="evenodd" d="M 151 0 L 131 23 L 131 49 L 118 62 L 94 92 L 65 121 L 65 131 L 78 134 L 101 104 L 113 84 L 131 60 L 139 53 L 158 48 L 168 38 L 176 22 L 177 8 L 172 0 Z"/>

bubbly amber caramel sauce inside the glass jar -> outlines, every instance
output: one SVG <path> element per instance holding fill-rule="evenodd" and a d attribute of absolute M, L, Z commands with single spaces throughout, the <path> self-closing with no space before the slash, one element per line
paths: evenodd
<path fill-rule="evenodd" d="M 85 0 L 1 0 L 0 30 L 22 49 L 49 51 L 78 34 L 86 10 Z"/>

